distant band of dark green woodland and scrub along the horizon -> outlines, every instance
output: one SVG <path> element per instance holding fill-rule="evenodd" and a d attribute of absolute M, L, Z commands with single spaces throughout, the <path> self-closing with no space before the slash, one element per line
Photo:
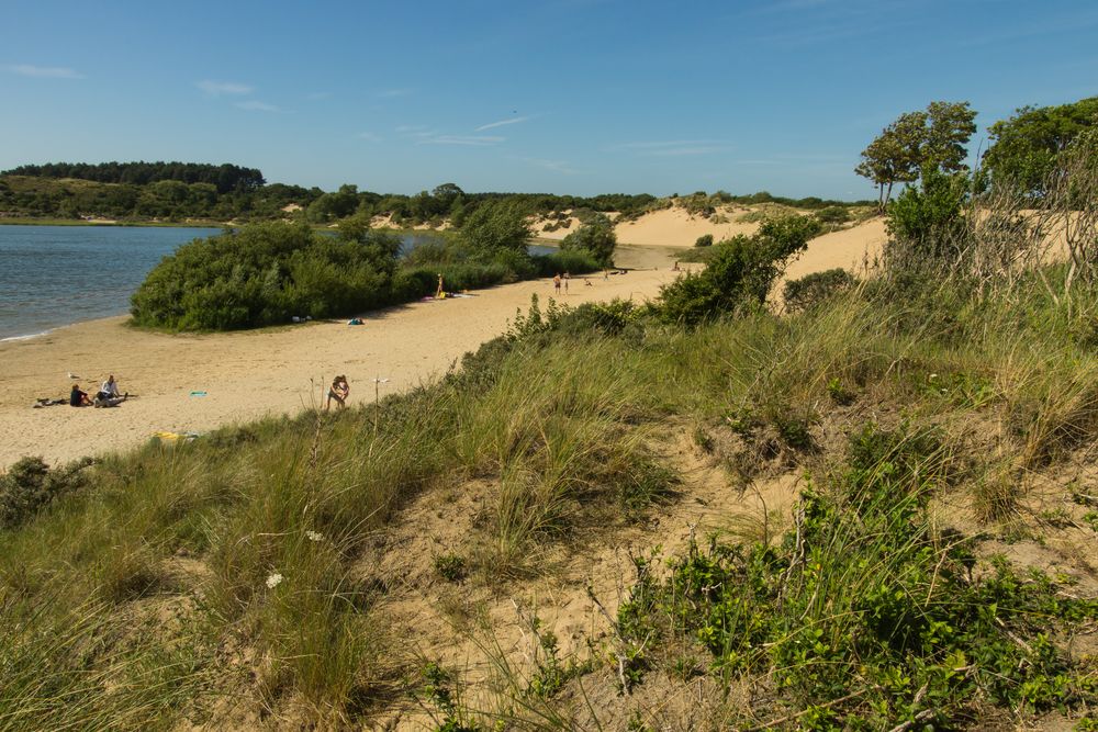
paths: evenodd
<path fill-rule="evenodd" d="M 390 216 L 395 226 L 441 224 L 460 227 L 481 204 L 505 199 L 529 214 L 563 211 L 618 212 L 634 217 L 668 207 L 676 200 L 692 214 L 709 216 L 722 203 L 782 203 L 819 210 L 848 202 L 818 198 L 786 199 L 766 192 L 732 195 L 725 191 L 658 199 L 648 193 L 606 193 L 594 196 L 549 193 L 467 193 L 442 183 L 415 195 L 336 191 L 267 183 L 260 170 L 231 164 L 198 162 L 47 162 L 25 165 L 0 173 L 0 217 L 90 218 L 127 222 L 257 222 L 303 218 L 329 224 L 349 216 Z M 858 205 L 866 202 L 858 202 Z M 561 226 L 567 226 L 560 216 Z"/>

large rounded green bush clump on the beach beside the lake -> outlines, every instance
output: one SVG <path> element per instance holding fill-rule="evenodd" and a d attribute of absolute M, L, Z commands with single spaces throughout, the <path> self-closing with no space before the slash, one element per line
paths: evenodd
<path fill-rule="evenodd" d="M 590 272 L 596 256 L 576 248 L 527 252 L 520 212 L 485 206 L 458 237 L 401 255 L 401 239 L 361 218 L 337 235 L 306 224 L 270 222 L 195 239 L 149 272 L 132 297 L 138 325 L 171 330 L 232 330 L 283 324 L 294 316 L 328 318 L 433 295 L 441 275 L 450 292 L 557 272 Z"/>

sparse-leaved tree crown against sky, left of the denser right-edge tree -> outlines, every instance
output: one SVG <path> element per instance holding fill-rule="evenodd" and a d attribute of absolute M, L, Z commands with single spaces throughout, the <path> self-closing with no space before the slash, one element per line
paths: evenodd
<path fill-rule="evenodd" d="M 919 180 L 928 167 L 942 172 L 967 170 L 965 145 L 976 132 L 976 111 L 968 102 L 931 102 L 926 111 L 905 112 L 862 150 L 854 172 L 879 191 L 884 211 L 893 185 Z"/>

